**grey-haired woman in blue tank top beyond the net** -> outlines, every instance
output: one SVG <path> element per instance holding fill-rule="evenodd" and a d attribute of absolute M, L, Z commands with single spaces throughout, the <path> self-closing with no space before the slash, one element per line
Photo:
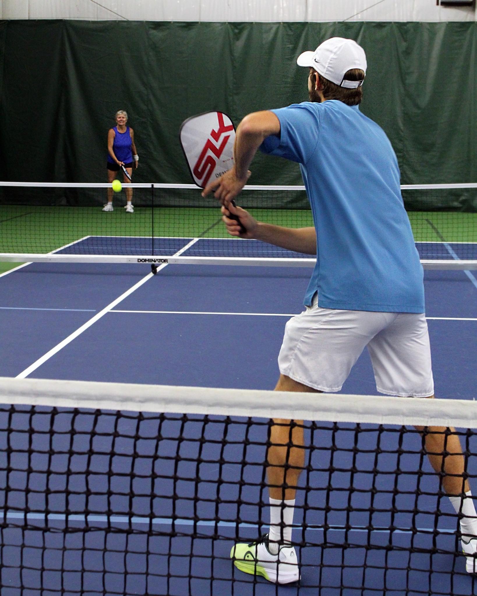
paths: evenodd
<path fill-rule="evenodd" d="M 113 182 L 121 166 L 125 166 L 129 176 L 132 176 L 132 169 L 138 167 L 139 157 L 134 144 L 134 131 L 131 126 L 126 126 L 128 114 L 124 110 L 116 112 L 116 126 L 108 132 L 108 182 Z M 126 175 L 123 175 L 124 182 L 129 182 Z M 126 188 L 126 213 L 134 213 L 132 206 L 132 188 Z M 113 189 L 108 188 L 108 202 L 103 211 L 113 210 Z"/>

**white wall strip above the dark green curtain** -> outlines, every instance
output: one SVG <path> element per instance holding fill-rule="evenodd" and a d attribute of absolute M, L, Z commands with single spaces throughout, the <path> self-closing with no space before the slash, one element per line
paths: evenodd
<path fill-rule="evenodd" d="M 476 14 L 471 7 L 436 6 L 436 0 L 0 0 L 2 18 L 473 21 Z"/>

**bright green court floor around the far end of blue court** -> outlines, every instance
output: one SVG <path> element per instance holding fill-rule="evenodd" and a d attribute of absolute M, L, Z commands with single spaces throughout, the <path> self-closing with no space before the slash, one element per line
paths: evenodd
<path fill-rule="evenodd" d="M 308 209 L 250 209 L 259 221 L 311 226 Z M 419 242 L 477 242 L 477 213 L 410 212 Z M 86 236 L 230 238 L 215 207 L 0 206 L 0 253 L 49 253 Z M 16 264 L 0 265 L 0 272 Z"/>

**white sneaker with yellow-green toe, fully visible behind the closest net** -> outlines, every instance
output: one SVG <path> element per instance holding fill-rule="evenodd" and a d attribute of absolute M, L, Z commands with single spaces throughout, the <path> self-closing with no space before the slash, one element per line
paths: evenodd
<path fill-rule="evenodd" d="M 230 558 L 234 565 L 244 573 L 261 575 L 269 582 L 298 582 L 300 571 L 295 548 L 280 547 L 278 553 L 268 550 L 268 534 L 256 542 L 240 542 L 232 547 Z"/>

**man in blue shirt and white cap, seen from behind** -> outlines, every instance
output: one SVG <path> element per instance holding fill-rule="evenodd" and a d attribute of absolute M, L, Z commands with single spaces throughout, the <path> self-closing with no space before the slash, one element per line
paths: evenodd
<path fill-rule="evenodd" d="M 379 392 L 432 398 L 423 270 L 402 202 L 397 158 L 385 132 L 358 108 L 366 55 L 351 39 L 331 38 L 297 62 L 309 68 L 310 101 L 246 116 L 237 129 L 234 167 L 203 193 L 213 191 L 221 201 L 231 235 L 317 255 L 306 311 L 286 325 L 275 389 L 339 391 L 367 346 Z M 249 178 L 258 148 L 300 164 L 314 228 L 262 224 L 231 204 Z M 275 422 L 267 454 L 270 532 L 251 544 L 236 544 L 231 557 L 246 573 L 289 583 L 299 579 L 291 539 L 303 432 L 290 421 Z M 435 454 L 429 455 L 433 468 L 447 474 L 442 486 L 464 515 L 461 542 L 469 555 L 467 571 L 473 573 L 475 508 L 459 438 L 445 437 L 444 431 L 429 429 L 426 450 Z M 453 457 L 443 458 L 444 451 Z M 281 488 L 285 482 L 289 488 Z"/>

